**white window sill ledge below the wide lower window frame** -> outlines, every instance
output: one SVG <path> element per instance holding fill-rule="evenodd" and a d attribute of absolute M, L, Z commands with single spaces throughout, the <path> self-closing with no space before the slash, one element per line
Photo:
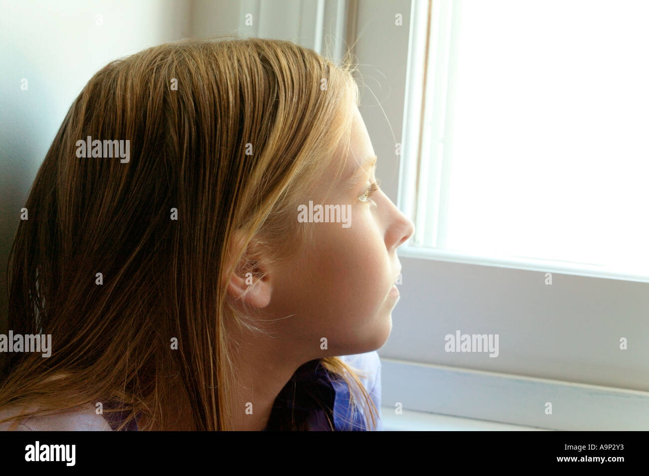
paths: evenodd
<path fill-rule="evenodd" d="M 563 431 L 649 427 L 649 392 L 386 357 L 381 365 L 382 416 L 388 430 L 413 430 L 420 424 L 432 429 L 443 422 L 456 429 L 468 424 L 470 429 L 502 425 Z M 398 403 L 404 414 L 395 414 Z M 548 408 L 552 413 L 546 413 Z M 406 410 L 411 418 L 405 417 Z"/>

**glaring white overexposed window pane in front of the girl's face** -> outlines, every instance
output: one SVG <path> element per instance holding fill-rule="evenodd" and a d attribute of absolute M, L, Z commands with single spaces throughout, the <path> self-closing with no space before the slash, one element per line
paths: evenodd
<path fill-rule="evenodd" d="M 408 254 L 649 282 L 649 3 L 415 8 Z"/>

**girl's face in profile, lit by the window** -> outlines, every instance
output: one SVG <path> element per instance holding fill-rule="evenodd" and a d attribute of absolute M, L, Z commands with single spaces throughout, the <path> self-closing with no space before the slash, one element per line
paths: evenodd
<path fill-rule="evenodd" d="M 355 105 L 352 114 L 345 171 L 332 184 L 334 164 L 311 198 L 313 216 L 319 204 L 339 205 L 347 214 L 338 215 L 338 222 L 332 216 L 329 223 L 298 223 L 312 227 L 313 248 L 304 244 L 271 267 L 271 299 L 263 311 L 277 320 L 269 330 L 281 336 L 281 345 L 289 346 L 287 353 L 302 359 L 359 354 L 386 343 L 399 299 L 394 286 L 401 271 L 397 248 L 414 232 L 411 220 L 382 190 L 371 187 L 376 166 L 363 165 L 371 163 L 374 150 Z M 333 192 L 325 197 L 330 188 Z M 297 221 L 309 217 L 309 199 L 302 205 L 300 220 L 295 210 Z"/>

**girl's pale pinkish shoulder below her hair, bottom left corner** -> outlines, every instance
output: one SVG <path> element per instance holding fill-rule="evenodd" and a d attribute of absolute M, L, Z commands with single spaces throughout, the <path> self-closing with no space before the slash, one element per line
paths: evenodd
<path fill-rule="evenodd" d="M 0 420 L 19 416 L 36 408 L 10 407 L 0 409 Z M 93 405 L 67 411 L 16 418 L 0 423 L 0 431 L 112 431 L 103 415 L 95 413 Z"/>

